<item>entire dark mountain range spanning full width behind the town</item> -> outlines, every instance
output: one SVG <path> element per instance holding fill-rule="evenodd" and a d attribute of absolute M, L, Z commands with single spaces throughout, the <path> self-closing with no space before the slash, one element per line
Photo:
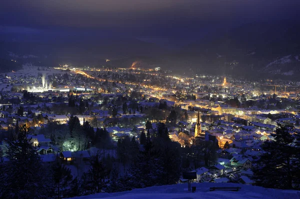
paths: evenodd
<path fill-rule="evenodd" d="M 179 50 L 138 39 L 75 42 L 0 42 L 0 58 L 53 66 L 161 67 L 179 74 L 289 78 L 300 74 L 300 26 L 296 21 L 248 23 L 216 30 Z M 110 62 L 106 63 L 106 59 Z"/>

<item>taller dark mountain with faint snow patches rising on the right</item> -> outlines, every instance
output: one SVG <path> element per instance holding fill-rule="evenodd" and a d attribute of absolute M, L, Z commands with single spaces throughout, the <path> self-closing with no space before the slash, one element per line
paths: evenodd
<path fill-rule="evenodd" d="M 251 23 L 232 28 L 223 33 L 214 33 L 198 42 L 193 42 L 169 59 L 177 65 L 190 67 L 194 72 L 215 74 L 269 75 L 299 74 L 297 57 L 300 54 L 300 26 L 292 21 Z M 276 61 L 290 55 L 287 62 Z M 266 69 L 263 69 L 267 67 Z M 186 70 L 186 68 L 185 68 Z M 259 71 L 259 73 L 257 73 Z M 286 72 L 286 73 L 283 73 Z"/>

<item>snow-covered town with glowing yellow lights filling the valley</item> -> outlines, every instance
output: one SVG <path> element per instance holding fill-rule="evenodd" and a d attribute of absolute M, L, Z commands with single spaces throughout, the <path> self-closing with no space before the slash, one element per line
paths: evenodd
<path fill-rule="evenodd" d="M 276 90 L 272 90 L 273 84 Z M 27 65 L 23 70 L 0 75 L 0 139 L 5 141 L 16 121 L 31 124 L 33 132 L 38 133 L 49 121 L 67 125 L 70 116 L 76 115 L 81 125 L 89 121 L 94 130 L 105 127 L 115 142 L 126 135 L 138 140 L 147 120 L 155 128 L 158 121 L 167 123 L 170 110 L 176 109 L 177 115 L 186 117 L 178 116 L 175 125 L 168 124 L 173 141 L 185 147 L 186 143 L 195 144 L 196 139 L 208 141 L 213 137 L 219 146 L 214 165 L 194 168 L 196 181 L 251 184 L 252 160 L 263 153 L 261 144 L 273 139 L 277 123 L 293 126 L 290 133 L 300 131 L 298 85 L 220 76 L 182 77 L 160 68 Z M 27 91 L 32 95 L 24 94 Z M 72 96 L 76 100 L 74 109 L 84 104 L 80 114 L 65 108 Z M 124 103 L 128 107 L 125 111 Z M 161 104 L 167 108 L 159 107 Z M 153 117 L 157 111 L 160 119 Z M 180 133 L 186 134 L 185 144 Z M 31 138 L 40 146 L 38 153 L 44 162 L 53 161 L 57 154 L 66 162 L 82 162 L 91 156 L 90 151 L 63 151 L 42 134 Z"/>

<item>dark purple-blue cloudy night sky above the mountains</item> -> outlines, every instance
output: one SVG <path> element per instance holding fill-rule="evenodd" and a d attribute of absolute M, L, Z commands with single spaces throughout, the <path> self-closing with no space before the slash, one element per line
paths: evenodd
<path fill-rule="evenodd" d="M 248 22 L 296 20 L 299 9 L 300 0 L 2 0 L 0 34 L 174 44 Z"/>

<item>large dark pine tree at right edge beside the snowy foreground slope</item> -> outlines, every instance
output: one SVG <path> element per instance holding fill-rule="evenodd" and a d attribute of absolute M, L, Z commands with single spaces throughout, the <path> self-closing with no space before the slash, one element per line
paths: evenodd
<path fill-rule="evenodd" d="M 263 153 L 253 162 L 253 179 L 257 186 L 275 189 L 294 189 L 298 180 L 295 165 L 297 148 L 293 146 L 293 136 L 286 127 L 278 124 L 271 134 L 274 141 L 266 141 L 261 146 Z"/>

